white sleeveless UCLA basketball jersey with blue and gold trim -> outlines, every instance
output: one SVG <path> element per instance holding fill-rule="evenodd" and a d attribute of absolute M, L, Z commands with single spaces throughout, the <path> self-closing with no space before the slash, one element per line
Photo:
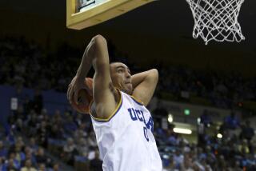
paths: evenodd
<path fill-rule="evenodd" d="M 104 171 L 162 171 L 150 112 L 134 97 L 121 92 L 108 119 L 92 117 Z"/>

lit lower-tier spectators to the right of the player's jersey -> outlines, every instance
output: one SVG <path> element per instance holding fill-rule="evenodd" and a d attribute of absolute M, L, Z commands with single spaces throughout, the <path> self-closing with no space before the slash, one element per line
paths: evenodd
<path fill-rule="evenodd" d="M 198 126 L 198 144 L 190 143 L 181 134 L 174 133 L 174 125 L 168 129 L 157 127 L 158 143 L 165 171 L 256 170 L 256 136 L 250 121 L 240 123 L 234 113 L 224 117 L 222 125 L 213 135 L 207 131 L 213 126 L 208 113 L 202 113 Z"/>

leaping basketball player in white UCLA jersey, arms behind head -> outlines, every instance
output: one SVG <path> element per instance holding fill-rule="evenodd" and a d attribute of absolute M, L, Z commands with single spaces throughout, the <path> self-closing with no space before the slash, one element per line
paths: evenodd
<path fill-rule="evenodd" d="M 67 97 L 78 103 L 79 89 L 94 67 L 90 116 L 104 171 L 162 171 L 156 146 L 154 122 L 146 105 L 158 82 L 158 70 L 131 76 L 121 63 L 109 63 L 106 39 L 92 38 L 86 47 L 77 74 L 69 85 Z"/>

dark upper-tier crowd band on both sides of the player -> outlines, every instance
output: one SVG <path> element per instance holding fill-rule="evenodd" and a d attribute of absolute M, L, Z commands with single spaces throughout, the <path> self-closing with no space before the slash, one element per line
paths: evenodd
<path fill-rule="evenodd" d="M 111 61 L 125 62 L 133 72 L 144 70 L 128 60 L 126 54 L 118 52 L 111 41 L 108 46 Z M 0 38 L 0 84 L 66 92 L 81 61 L 82 51 L 63 44 L 50 53 L 35 42 L 26 42 L 25 38 Z M 234 72 L 190 70 L 184 66 L 166 67 L 159 62 L 150 67 L 159 71 L 158 92 L 172 93 L 177 101 L 186 94 L 185 97 L 203 97 L 211 105 L 232 109 L 242 107 L 243 101 L 256 100 L 255 77 L 243 78 Z"/>

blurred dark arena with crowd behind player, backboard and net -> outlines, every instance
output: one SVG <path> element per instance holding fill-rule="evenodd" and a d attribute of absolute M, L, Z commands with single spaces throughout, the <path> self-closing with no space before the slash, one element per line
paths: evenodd
<path fill-rule="evenodd" d="M 165 170 L 256 170 L 255 1 L 246 40 L 192 38 L 186 1 L 152 2 L 85 30 L 66 29 L 66 2 L 0 2 L 0 170 L 101 170 L 90 116 L 66 99 L 96 34 L 133 73 L 159 72 L 148 106 Z M 25 169 L 24 169 L 25 168 Z M 190 168 L 190 169 L 189 169 Z"/>

